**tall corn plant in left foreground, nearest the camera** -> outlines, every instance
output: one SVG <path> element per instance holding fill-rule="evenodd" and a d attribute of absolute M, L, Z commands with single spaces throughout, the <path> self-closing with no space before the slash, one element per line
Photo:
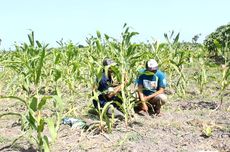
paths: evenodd
<path fill-rule="evenodd" d="M 33 32 L 28 35 L 28 38 L 29 45 L 24 43 L 22 46 L 16 46 L 16 51 L 13 53 L 15 61 L 4 62 L 7 67 L 22 77 L 21 87 L 27 95 L 25 99 L 17 96 L 1 97 L 21 101 L 26 108 L 25 113 L 12 112 L 1 114 L 1 116 L 12 114 L 20 116 L 22 130 L 30 134 L 30 139 L 36 142 L 40 151 L 49 151 L 50 140 L 43 134 L 44 127 L 48 124 L 52 141 L 54 141 L 57 136 L 63 106 L 60 96 L 41 96 L 39 94 L 41 82 L 44 79 L 43 73 L 46 73 L 44 72 L 44 64 L 49 49 L 47 49 L 48 45 L 42 46 L 39 41 L 35 41 Z M 31 86 L 34 86 L 33 91 L 31 91 Z M 56 88 L 56 90 L 58 89 Z M 53 101 L 54 109 L 56 110 L 56 118 L 54 119 L 45 118 L 42 113 L 44 105 L 50 100 Z M 35 137 L 32 135 L 33 132 L 36 132 Z"/>

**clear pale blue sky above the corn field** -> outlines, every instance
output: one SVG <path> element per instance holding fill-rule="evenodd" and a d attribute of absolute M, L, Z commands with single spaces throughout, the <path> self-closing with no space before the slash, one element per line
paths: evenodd
<path fill-rule="evenodd" d="M 180 41 L 199 42 L 230 22 L 230 0 L 0 0 L 0 49 L 27 42 L 29 29 L 41 42 L 85 44 L 99 30 L 119 39 L 127 23 L 138 42 L 164 41 L 164 33 L 180 32 Z"/>

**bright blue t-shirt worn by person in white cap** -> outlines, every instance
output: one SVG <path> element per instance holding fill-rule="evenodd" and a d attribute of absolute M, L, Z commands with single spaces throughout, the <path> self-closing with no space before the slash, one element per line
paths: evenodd
<path fill-rule="evenodd" d="M 166 87 L 165 74 L 160 70 L 157 70 L 156 73 L 145 71 L 139 76 L 138 85 L 143 86 L 143 94 L 145 96 L 151 95 L 160 88 Z"/>

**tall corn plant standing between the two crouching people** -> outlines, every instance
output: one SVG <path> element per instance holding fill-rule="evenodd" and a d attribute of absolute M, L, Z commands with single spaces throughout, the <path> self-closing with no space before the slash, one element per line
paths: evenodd
<path fill-rule="evenodd" d="M 121 99 L 123 101 L 122 107 L 120 107 L 125 115 L 125 124 L 126 127 L 129 124 L 129 121 L 133 115 L 133 107 L 135 102 L 133 101 L 133 97 L 129 92 L 129 84 L 132 82 L 132 73 L 136 71 L 134 66 L 136 62 L 141 57 L 141 53 L 137 52 L 137 48 L 139 45 L 132 44 L 131 38 L 137 35 L 137 32 L 129 32 L 129 27 L 124 25 L 124 32 L 122 33 L 122 41 L 121 43 L 114 41 L 109 41 L 107 37 L 108 45 L 115 57 L 116 62 L 118 63 L 118 71 L 115 72 L 115 76 L 121 84 Z M 129 71 L 129 73 L 127 72 Z"/>

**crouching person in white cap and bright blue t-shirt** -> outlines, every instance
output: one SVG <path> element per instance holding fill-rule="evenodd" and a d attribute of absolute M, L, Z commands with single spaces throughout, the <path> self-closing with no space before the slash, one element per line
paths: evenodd
<path fill-rule="evenodd" d="M 156 115 L 160 114 L 160 109 L 167 100 L 164 94 L 166 87 L 165 74 L 158 70 L 158 63 L 154 59 L 146 62 L 146 70 L 138 79 L 138 95 L 141 100 L 141 109 L 145 112 L 150 107 Z"/>

